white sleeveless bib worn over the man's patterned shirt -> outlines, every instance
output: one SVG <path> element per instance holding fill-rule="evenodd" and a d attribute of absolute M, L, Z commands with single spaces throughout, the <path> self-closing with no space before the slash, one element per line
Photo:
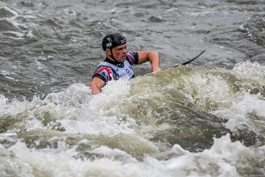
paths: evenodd
<path fill-rule="evenodd" d="M 109 66 L 113 68 L 119 74 L 119 78 L 130 80 L 134 77 L 132 65 L 130 65 L 130 63 L 127 60 L 125 60 L 121 66 L 112 65 L 111 63 L 105 61 L 101 62 L 98 65 L 98 67 L 99 66 Z"/>

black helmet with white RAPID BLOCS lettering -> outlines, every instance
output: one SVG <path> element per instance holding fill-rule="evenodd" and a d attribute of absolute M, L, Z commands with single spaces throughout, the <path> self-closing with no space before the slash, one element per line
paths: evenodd
<path fill-rule="evenodd" d="M 121 33 L 110 33 L 103 38 L 102 48 L 105 51 L 106 48 L 112 49 L 118 45 L 126 43 L 125 37 Z"/>

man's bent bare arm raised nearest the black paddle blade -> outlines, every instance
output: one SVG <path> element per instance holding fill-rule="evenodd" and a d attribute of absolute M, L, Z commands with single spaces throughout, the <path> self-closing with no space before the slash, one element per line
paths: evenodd
<path fill-rule="evenodd" d="M 152 72 L 159 71 L 160 57 L 155 51 L 137 51 L 138 64 L 150 61 Z"/>

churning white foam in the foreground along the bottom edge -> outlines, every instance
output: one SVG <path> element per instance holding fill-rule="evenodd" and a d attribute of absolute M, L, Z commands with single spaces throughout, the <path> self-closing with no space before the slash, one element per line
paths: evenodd
<path fill-rule="evenodd" d="M 178 147 L 179 149 L 180 147 Z M 0 147 L 0 154 L 9 156 L 14 165 L 11 170 L 20 173 L 24 166 L 24 175 L 46 174 L 46 176 L 128 176 L 128 177 L 226 177 L 251 175 L 252 171 L 264 172 L 262 165 L 255 164 L 265 160 L 265 146 L 259 148 L 245 147 L 240 142 L 231 142 L 229 134 L 215 138 L 211 149 L 199 153 L 183 154 L 169 160 L 157 160 L 146 157 L 138 161 L 125 152 L 100 146 L 90 151 L 106 155 L 108 158 L 80 160 L 73 158 L 77 155 L 75 148 L 67 149 L 63 143 L 58 143 L 58 149 L 30 150 L 24 143 L 17 142 L 9 149 Z M 10 156 L 14 153 L 13 156 Z M 123 156 L 124 161 L 112 157 Z M 247 174 L 242 174 L 248 165 Z M 4 167 L 7 167 L 5 165 Z M 29 170 L 31 169 L 31 170 Z M 78 175 L 77 175 L 78 174 Z"/>

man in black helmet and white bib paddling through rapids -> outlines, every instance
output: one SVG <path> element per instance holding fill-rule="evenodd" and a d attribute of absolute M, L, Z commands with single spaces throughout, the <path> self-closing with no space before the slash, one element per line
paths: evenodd
<path fill-rule="evenodd" d="M 132 65 L 151 63 L 152 72 L 159 71 L 160 57 L 155 51 L 127 51 L 125 37 L 117 32 L 110 33 L 103 38 L 102 47 L 106 52 L 106 59 L 98 65 L 91 83 L 88 85 L 92 94 L 101 92 L 105 84 L 114 79 L 134 78 Z"/>

